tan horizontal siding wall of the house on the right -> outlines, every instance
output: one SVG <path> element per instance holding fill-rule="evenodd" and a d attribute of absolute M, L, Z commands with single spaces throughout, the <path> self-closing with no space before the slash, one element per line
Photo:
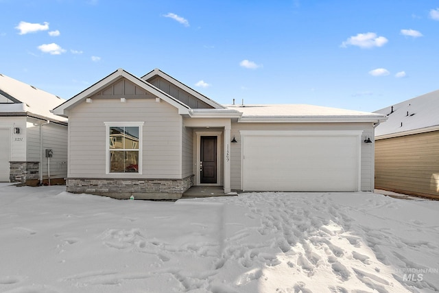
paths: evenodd
<path fill-rule="evenodd" d="M 439 198 L 439 131 L 376 140 L 375 187 Z"/>

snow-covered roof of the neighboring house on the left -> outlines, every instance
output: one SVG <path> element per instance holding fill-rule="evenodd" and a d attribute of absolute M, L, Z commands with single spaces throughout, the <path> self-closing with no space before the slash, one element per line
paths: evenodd
<path fill-rule="evenodd" d="M 67 121 L 50 112 L 64 99 L 3 74 L 0 74 L 0 97 L 4 101 L 0 113 L 27 113 L 41 119 Z"/>

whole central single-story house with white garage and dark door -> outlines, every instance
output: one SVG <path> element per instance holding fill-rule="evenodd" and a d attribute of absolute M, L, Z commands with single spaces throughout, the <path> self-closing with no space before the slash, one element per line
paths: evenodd
<path fill-rule="evenodd" d="M 69 117 L 67 191 L 180 198 L 238 191 L 372 191 L 385 115 L 307 105 L 222 106 L 154 69 L 118 69 L 54 109 Z"/>

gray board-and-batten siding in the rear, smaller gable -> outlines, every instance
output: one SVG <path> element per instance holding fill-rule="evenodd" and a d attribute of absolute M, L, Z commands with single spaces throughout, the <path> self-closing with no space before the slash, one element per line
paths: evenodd
<path fill-rule="evenodd" d="M 151 80 L 148 80 L 150 84 L 153 84 L 158 89 L 161 89 L 168 95 L 171 95 L 172 97 L 178 99 L 180 102 L 185 103 L 187 106 L 195 109 L 195 108 L 213 108 L 212 106 L 209 106 L 209 104 L 206 104 L 197 97 L 194 97 L 190 93 L 187 93 L 187 91 L 183 91 L 182 89 L 179 89 L 177 86 L 174 86 L 174 84 L 171 84 L 167 80 L 161 78 L 160 76 L 156 76 L 152 78 Z"/>

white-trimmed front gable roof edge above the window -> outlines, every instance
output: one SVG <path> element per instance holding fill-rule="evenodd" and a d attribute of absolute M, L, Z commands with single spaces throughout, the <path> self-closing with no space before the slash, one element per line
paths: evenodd
<path fill-rule="evenodd" d="M 145 91 L 148 91 L 153 95 L 156 95 L 156 97 L 159 97 L 163 99 L 165 102 L 175 106 L 176 108 L 178 108 L 178 113 L 180 114 L 189 113 L 189 106 L 178 101 L 178 99 L 171 97 L 171 95 L 168 95 L 167 93 L 161 91 L 160 89 L 157 89 L 156 86 L 153 86 L 149 82 L 146 82 L 145 80 L 141 80 L 140 78 L 137 78 L 136 76 L 132 75 L 128 71 L 125 71 L 120 68 L 117 69 L 117 71 L 110 73 L 110 75 L 107 75 L 102 80 L 99 80 L 99 82 L 96 82 L 92 86 L 88 87 L 81 93 L 78 93 L 78 95 L 75 95 L 74 97 L 67 100 L 60 106 L 54 108 L 54 113 L 64 117 L 69 116 L 70 108 L 73 108 L 76 104 L 83 102 L 87 97 L 91 97 L 92 95 L 95 95 L 95 93 L 98 93 L 109 84 L 112 84 L 112 82 L 120 80 L 121 78 L 126 78 L 127 80 L 130 80 L 130 82 L 136 84 L 137 86 L 140 86 Z"/>

